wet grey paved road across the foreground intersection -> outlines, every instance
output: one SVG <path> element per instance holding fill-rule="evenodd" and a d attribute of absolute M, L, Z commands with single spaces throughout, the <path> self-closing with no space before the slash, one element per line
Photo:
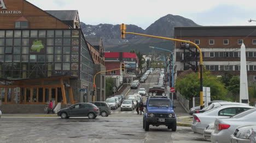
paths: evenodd
<path fill-rule="evenodd" d="M 207 142 L 202 135 L 194 134 L 190 127 L 142 128 L 141 116 L 119 114 L 118 117 L 11 117 L 0 119 L 0 143 L 28 142 Z"/>

